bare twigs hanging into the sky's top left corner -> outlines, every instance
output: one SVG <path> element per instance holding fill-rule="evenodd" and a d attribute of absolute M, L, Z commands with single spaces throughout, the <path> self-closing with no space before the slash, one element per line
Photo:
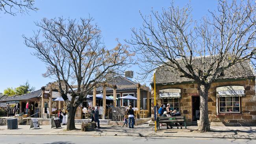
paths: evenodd
<path fill-rule="evenodd" d="M 37 11 L 34 7 L 34 0 L 0 0 L 0 11 L 15 16 L 17 13 L 28 13 L 28 11 Z"/>

